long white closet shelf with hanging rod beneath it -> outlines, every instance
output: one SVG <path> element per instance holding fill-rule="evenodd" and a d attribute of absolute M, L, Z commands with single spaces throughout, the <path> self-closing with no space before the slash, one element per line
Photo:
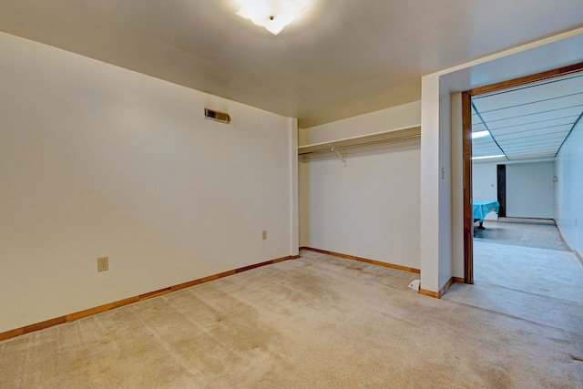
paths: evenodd
<path fill-rule="evenodd" d="M 388 131 L 376 132 L 361 137 L 343 138 L 322 143 L 314 143 L 298 147 L 298 155 L 335 152 L 346 148 L 373 146 L 382 143 L 411 143 L 421 138 L 421 126 L 395 128 Z"/>

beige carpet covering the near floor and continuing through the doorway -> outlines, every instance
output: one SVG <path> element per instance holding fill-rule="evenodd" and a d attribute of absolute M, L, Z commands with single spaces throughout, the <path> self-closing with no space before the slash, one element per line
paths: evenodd
<path fill-rule="evenodd" d="M 0 387 L 583 387 L 577 258 L 476 242 L 483 259 L 437 300 L 417 274 L 302 251 L 2 342 Z"/>

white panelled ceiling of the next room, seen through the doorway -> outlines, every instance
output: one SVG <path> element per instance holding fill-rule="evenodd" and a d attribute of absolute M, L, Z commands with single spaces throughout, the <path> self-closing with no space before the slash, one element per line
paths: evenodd
<path fill-rule="evenodd" d="M 473 97 L 472 103 L 472 131 L 491 135 L 473 140 L 473 157 L 552 159 L 583 115 L 583 73 Z"/>

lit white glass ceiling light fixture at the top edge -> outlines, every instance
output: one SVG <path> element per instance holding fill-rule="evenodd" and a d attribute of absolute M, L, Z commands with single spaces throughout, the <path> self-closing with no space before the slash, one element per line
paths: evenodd
<path fill-rule="evenodd" d="M 283 27 L 292 23 L 308 5 L 309 0 L 245 0 L 244 6 L 235 14 L 265 27 L 274 36 Z"/>

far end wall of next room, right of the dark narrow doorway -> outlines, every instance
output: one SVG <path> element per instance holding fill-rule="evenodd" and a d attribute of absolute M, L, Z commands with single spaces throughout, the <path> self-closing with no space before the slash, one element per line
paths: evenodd
<path fill-rule="evenodd" d="M 553 161 L 506 164 L 506 216 L 554 217 Z"/>

